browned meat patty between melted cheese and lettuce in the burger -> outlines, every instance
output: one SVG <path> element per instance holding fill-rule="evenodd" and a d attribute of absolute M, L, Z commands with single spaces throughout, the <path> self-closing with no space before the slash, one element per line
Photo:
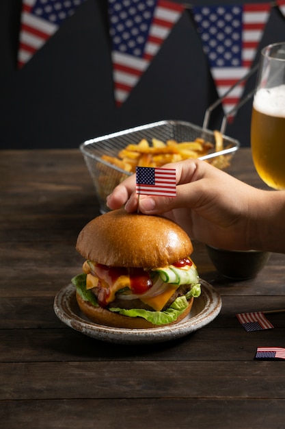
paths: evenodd
<path fill-rule="evenodd" d="M 171 306 L 172 302 L 175 301 L 177 297 L 181 297 L 182 295 L 185 295 L 189 290 L 191 289 L 191 286 L 189 284 L 182 284 L 181 286 L 176 289 L 174 294 L 168 299 L 165 306 L 162 308 L 161 311 L 166 310 L 169 306 Z M 96 297 L 98 297 L 98 288 L 93 288 L 92 292 Z M 131 310 L 132 308 L 141 308 L 144 310 L 150 310 L 155 311 L 152 307 L 148 306 L 148 304 L 145 304 L 141 301 L 141 299 L 122 299 L 116 297 L 112 302 L 109 303 L 109 307 L 118 307 L 118 308 L 124 308 L 125 310 Z"/>

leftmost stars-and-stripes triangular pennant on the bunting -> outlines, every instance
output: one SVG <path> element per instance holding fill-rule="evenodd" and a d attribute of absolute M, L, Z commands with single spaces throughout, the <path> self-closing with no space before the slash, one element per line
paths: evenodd
<path fill-rule="evenodd" d="M 18 68 L 28 62 L 85 0 L 23 0 Z"/>

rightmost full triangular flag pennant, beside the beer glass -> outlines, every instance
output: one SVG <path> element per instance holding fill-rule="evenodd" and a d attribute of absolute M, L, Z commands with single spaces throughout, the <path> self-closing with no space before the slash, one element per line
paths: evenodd
<path fill-rule="evenodd" d="M 219 98 L 251 69 L 270 10 L 270 3 L 193 7 Z M 244 85 L 223 101 L 225 114 L 239 103 Z"/>

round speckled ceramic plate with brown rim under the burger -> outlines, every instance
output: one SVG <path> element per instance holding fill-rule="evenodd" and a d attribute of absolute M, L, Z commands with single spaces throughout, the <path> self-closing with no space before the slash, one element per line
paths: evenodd
<path fill-rule="evenodd" d="M 213 286 L 200 279 L 202 293 L 195 298 L 191 312 L 185 319 L 172 326 L 151 329 L 120 329 L 98 325 L 82 314 L 75 297 L 75 287 L 65 286 L 57 293 L 54 310 L 57 317 L 70 328 L 87 336 L 109 343 L 146 344 L 169 341 L 194 332 L 213 321 L 221 310 L 221 297 Z"/>

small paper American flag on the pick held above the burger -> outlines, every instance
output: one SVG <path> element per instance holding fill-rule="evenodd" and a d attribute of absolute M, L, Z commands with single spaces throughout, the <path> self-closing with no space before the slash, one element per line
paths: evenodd
<path fill-rule="evenodd" d="M 176 170 L 154 167 L 136 168 L 137 194 L 176 197 Z"/>

